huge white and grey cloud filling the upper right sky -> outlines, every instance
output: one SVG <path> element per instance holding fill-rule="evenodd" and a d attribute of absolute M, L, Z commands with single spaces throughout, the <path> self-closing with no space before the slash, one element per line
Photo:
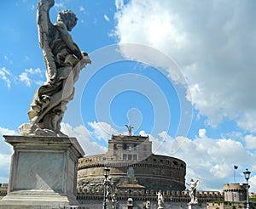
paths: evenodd
<path fill-rule="evenodd" d="M 232 119 L 255 133 L 255 7 L 252 1 L 133 0 L 117 6 L 114 34 L 119 43 L 145 44 L 176 60 L 207 125 Z M 136 51 L 125 55 L 137 56 Z"/>

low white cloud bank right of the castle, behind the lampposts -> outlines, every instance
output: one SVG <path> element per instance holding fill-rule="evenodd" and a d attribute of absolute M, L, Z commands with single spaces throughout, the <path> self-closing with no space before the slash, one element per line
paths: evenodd
<path fill-rule="evenodd" d="M 209 138 L 205 129 L 200 129 L 195 138 L 172 138 L 166 136 L 166 133 L 160 133 L 157 138 L 150 136 L 150 140 L 153 142 L 155 154 L 172 155 L 185 161 L 187 181 L 190 178 L 199 179 L 200 189 L 222 190 L 223 184 L 233 183 L 234 165 L 239 167 L 236 182 L 243 183 L 242 172 L 247 165 L 250 165 L 252 171 L 256 167 L 254 161 L 256 153 L 253 150 L 247 150 L 241 142 L 232 138 Z M 179 144 L 174 153 L 173 144 L 175 146 Z M 252 191 L 256 189 L 256 178 L 253 179 L 251 179 Z"/>

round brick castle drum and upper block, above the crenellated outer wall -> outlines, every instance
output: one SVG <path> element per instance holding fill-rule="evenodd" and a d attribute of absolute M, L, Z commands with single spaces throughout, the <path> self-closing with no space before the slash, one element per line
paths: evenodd
<path fill-rule="evenodd" d="M 110 168 L 116 189 L 185 189 L 186 163 L 177 158 L 154 155 L 148 136 L 117 135 L 108 141 L 108 152 L 79 159 L 79 189 L 96 189 L 105 166 Z"/>

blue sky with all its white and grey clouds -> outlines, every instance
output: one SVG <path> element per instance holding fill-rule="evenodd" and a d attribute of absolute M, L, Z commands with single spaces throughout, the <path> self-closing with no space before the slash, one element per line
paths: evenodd
<path fill-rule="evenodd" d="M 0 3 L 0 133 L 19 134 L 34 91 L 44 83 L 37 1 Z M 148 134 L 154 153 L 187 163 L 200 189 L 244 183 L 256 190 L 255 8 L 247 1 L 55 1 L 50 18 L 72 9 L 71 32 L 90 55 L 62 131 L 86 155 L 106 151 L 112 134 Z M 11 147 L 0 141 L 0 182 Z"/>

